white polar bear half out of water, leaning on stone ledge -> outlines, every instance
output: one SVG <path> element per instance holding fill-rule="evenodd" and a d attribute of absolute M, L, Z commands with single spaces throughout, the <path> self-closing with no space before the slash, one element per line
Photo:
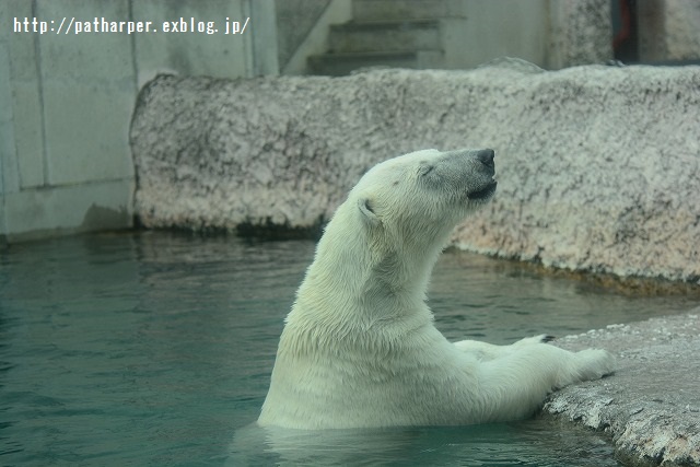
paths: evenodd
<path fill-rule="evenodd" d="M 261 427 L 448 425 L 530 416 L 614 369 L 546 336 L 450 342 L 425 304 L 453 229 L 493 196 L 490 149 L 423 150 L 371 168 L 337 209 L 285 319 Z"/>

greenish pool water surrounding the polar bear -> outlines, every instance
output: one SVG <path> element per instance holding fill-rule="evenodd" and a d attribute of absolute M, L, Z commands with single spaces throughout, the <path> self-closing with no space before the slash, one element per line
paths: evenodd
<path fill-rule="evenodd" d="M 0 465 L 617 465 L 548 419 L 262 432 L 282 319 L 311 242 L 118 233 L 0 250 Z M 451 339 L 504 343 L 687 311 L 448 253 L 431 306 Z"/>

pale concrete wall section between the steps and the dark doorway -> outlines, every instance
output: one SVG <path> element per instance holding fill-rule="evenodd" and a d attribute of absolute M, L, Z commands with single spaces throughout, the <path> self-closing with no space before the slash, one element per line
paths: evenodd
<path fill-rule="evenodd" d="M 612 58 L 609 0 L 445 1 L 445 68 L 514 57 L 558 70 Z"/>

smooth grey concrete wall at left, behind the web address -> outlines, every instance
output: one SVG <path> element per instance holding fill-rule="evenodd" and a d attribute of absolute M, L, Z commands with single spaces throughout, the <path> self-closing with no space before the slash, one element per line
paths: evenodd
<path fill-rule="evenodd" d="M 155 32 L 68 30 L 71 20 L 95 27 L 95 17 L 151 21 Z M 182 32 L 180 17 L 219 32 Z M 234 35 L 226 17 L 230 28 L 250 20 Z M 163 33 L 164 21 L 180 32 Z M 272 0 L 3 0 L 0 25 L 2 243 L 131 225 L 129 124 L 139 87 L 156 73 L 278 71 Z"/>

